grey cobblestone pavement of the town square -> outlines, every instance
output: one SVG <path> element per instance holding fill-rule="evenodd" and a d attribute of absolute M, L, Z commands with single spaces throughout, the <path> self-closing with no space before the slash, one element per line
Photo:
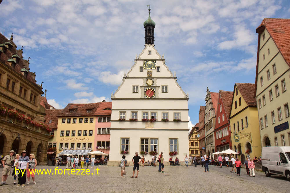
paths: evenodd
<path fill-rule="evenodd" d="M 37 169 L 51 169 L 56 166 L 38 166 Z M 65 169 L 65 166 L 59 166 Z M 90 167 L 89 167 L 90 168 Z M 230 173 L 231 168 L 209 166 L 209 173 L 201 166 L 165 166 L 165 173 L 158 167 L 139 168 L 138 178 L 132 176 L 133 167 L 126 167 L 126 176 L 121 178 L 120 167 L 99 166 L 99 175 L 36 175 L 37 184 L 26 187 L 13 185 L 13 177 L 8 177 L 8 185 L 0 186 L 1 192 L 287 192 L 289 182 L 282 177 L 267 178 L 263 172 L 256 177 L 238 177 Z M 90 169 L 90 173 L 93 172 Z M 0 169 L 2 174 L 2 169 Z M 136 173 L 135 173 L 136 175 Z M 16 180 L 18 182 L 18 178 Z M 27 183 L 27 181 L 26 181 Z"/>

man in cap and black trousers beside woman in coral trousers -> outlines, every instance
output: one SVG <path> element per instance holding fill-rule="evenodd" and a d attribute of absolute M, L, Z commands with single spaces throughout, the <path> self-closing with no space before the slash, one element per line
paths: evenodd
<path fill-rule="evenodd" d="M 26 183 L 26 171 L 28 171 L 28 165 L 30 162 L 29 157 L 26 155 L 26 151 L 21 152 L 21 156 L 19 157 L 17 168 L 20 170 L 18 175 L 18 184 L 17 187 L 25 187 Z"/>

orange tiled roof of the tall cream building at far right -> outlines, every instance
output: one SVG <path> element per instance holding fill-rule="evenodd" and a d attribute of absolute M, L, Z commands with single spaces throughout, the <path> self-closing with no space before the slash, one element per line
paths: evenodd
<path fill-rule="evenodd" d="M 290 19 L 264 18 L 256 32 L 261 34 L 265 28 L 290 67 Z"/>

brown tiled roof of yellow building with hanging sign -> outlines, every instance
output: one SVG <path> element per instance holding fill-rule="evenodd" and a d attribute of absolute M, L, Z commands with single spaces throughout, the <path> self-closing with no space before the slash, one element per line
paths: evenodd
<path fill-rule="evenodd" d="M 255 84 L 235 83 L 248 106 L 257 107 L 255 99 Z"/>

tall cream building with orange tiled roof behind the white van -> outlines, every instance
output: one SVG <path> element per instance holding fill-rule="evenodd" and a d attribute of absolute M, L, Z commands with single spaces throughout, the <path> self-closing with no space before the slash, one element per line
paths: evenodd
<path fill-rule="evenodd" d="M 262 146 L 290 146 L 290 19 L 265 18 L 257 28 L 256 100 Z"/>

